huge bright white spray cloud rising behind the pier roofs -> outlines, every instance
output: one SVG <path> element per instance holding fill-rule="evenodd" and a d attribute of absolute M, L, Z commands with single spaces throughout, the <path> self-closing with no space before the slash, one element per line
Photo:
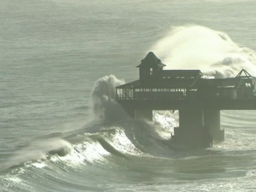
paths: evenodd
<path fill-rule="evenodd" d="M 173 27 L 150 49 L 166 69 L 200 69 L 206 76 L 235 77 L 241 69 L 256 75 L 256 53 L 221 32 L 202 26 Z"/>

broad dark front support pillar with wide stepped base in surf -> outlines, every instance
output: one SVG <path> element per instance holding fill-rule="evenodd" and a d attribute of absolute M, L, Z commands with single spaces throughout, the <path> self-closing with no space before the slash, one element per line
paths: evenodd
<path fill-rule="evenodd" d="M 184 108 L 179 110 L 179 127 L 174 127 L 172 139 L 175 143 L 189 147 L 211 147 L 212 137 L 204 126 L 202 109 Z"/>

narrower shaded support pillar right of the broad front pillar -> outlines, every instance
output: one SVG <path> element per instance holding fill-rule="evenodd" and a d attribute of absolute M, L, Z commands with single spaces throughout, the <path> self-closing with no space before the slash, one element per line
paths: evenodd
<path fill-rule="evenodd" d="M 214 143 L 225 140 L 224 130 L 220 126 L 220 110 L 204 110 L 204 125 L 209 127 Z"/>

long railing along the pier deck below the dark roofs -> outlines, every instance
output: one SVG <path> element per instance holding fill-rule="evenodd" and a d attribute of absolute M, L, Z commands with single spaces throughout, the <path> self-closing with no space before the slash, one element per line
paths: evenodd
<path fill-rule="evenodd" d="M 252 90 L 247 93 L 237 93 L 237 89 L 169 89 L 169 88 L 117 88 L 116 100 L 245 100 L 256 99 Z"/>

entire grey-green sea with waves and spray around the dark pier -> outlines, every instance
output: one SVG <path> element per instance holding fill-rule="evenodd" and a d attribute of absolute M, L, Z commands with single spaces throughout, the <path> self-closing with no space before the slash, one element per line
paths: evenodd
<path fill-rule="evenodd" d="M 166 69 L 256 75 L 255 1 L 0 0 L 0 191 L 256 191 L 256 111 L 173 150 L 175 111 L 131 119 L 115 86 Z"/>

